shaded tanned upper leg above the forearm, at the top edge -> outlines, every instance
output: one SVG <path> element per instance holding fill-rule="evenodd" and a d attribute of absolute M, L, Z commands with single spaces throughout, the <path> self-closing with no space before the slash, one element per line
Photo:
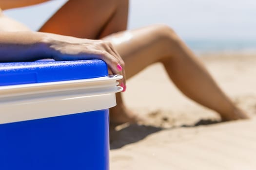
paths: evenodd
<path fill-rule="evenodd" d="M 40 29 L 99 39 L 126 29 L 128 0 L 69 0 Z"/>

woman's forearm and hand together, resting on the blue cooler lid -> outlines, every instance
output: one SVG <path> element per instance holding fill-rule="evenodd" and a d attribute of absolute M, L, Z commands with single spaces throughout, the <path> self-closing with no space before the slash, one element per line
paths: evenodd
<path fill-rule="evenodd" d="M 101 59 L 114 74 L 124 73 L 124 63 L 112 44 L 40 32 L 0 32 L 0 62 Z M 122 71 L 121 71 L 122 70 Z"/>

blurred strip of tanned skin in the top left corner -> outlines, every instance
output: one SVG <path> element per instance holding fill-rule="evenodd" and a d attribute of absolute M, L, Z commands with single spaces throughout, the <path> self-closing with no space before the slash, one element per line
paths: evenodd
<path fill-rule="evenodd" d="M 46 2 L 49 0 L 0 0 L 0 8 L 2 10 L 19 8 L 29 5 L 35 5 L 38 3 Z"/>

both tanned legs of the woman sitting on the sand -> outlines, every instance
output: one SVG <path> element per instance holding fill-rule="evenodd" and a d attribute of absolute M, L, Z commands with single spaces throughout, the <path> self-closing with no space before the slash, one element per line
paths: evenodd
<path fill-rule="evenodd" d="M 69 0 L 39 31 L 98 39 L 125 30 L 127 12 L 127 0 Z M 130 35 L 133 36 L 131 39 Z M 168 27 L 153 26 L 130 34 L 112 35 L 108 39 L 125 60 L 128 78 L 152 63 L 162 62 L 171 79 L 188 97 L 216 110 L 223 119 L 246 117 L 221 92 L 197 58 Z M 204 90 L 195 90 L 201 87 Z M 135 117 L 126 110 L 120 95 L 117 95 L 117 102 L 118 107 L 111 110 L 112 121 L 134 121 Z"/>

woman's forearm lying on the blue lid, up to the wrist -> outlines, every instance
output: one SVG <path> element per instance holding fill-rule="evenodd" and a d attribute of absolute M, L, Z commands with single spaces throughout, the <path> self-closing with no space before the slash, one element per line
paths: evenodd
<path fill-rule="evenodd" d="M 51 49 L 38 32 L 0 32 L 0 62 L 30 61 L 51 58 Z"/>

